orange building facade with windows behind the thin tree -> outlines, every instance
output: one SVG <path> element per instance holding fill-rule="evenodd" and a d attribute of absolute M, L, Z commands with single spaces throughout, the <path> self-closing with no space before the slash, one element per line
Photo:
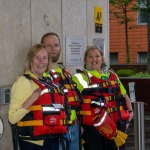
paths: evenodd
<path fill-rule="evenodd" d="M 111 7 L 113 6 L 110 6 L 110 9 Z M 130 64 L 146 64 L 148 51 L 146 12 L 133 12 L 127 8 L 127 16 L 131 19 L 128 23 Z M 119 21 L 110 13 L 110 64 L 113 65 L 127 63 L 125 24 Z"/>

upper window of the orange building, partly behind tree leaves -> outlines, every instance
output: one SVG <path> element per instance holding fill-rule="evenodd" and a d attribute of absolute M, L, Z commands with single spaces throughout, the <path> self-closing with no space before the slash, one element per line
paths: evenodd
<path fill-rule="evenodd" d="M 147 12 L 144 10 L 146 8 L 146 0 L 145 2 L 138 3 L 139 7 L 143 10 L 138 12 L 138 24 L 143 25 L 147 23 Z"/>

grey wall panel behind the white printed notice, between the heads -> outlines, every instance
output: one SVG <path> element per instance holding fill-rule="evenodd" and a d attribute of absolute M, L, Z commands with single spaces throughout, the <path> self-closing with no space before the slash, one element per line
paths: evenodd
<path fill-rule="evenodd" d="M 67 5 L 66 5 L 67 4 Z M 66 45 L 65 37 L 83 38 L 84 48 L 87 45 L 87 16 L 86 16 L 86 0 L 62 1 L 62 34 L 63 34 L 63 62 L 66 61 Z M 76 68 L 82 69 L 82 66 L 66 66 L 72 73 Z"/>

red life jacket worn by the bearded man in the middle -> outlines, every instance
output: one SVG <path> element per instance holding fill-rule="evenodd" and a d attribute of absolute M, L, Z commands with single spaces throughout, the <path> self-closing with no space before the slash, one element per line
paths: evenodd
<path fill-rule="evenodd" d="M 53 77 L 54 83 L 60 84 L 67 89 L 66 96 L 69 105 L 72 108 L 78 107 L 82 98 L 80 94 L 77 93 L 77 86 L 76 83 L 73 82 L 71 74 L 65 68 L 62 68 L 62 74 L 56 72 L 54 69 L 51 70 L 50 74 Z"/>

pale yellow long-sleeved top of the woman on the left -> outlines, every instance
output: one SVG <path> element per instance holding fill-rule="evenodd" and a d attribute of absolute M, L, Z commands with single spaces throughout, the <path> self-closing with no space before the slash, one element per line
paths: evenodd
<path fill-rule="evenodd" d="M 37 77 L 30 71 L 26 71 L 25 74 L 30 74 L 32 77 Z M 27 79 L 25 76 L 19 77 L 12 86 L 11 100 L 8 111 L 8 119 L 11 124 L 15 124 L 20 121 L 29 110 L 22 108 L 22 104 L 31 96 L 33 91 L 38 88 L 38 85 L 32 80 Z M 29 141 L 37 145 L 43 145 L 43 140 Z"/>

